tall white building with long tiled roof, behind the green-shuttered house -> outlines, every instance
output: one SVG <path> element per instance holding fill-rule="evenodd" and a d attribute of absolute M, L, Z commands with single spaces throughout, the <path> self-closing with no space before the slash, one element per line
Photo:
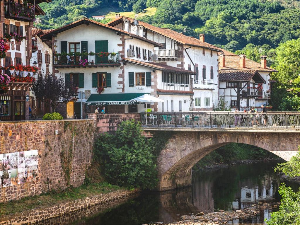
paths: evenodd
<path fill-rule="evenodd" d="M 186 93 L 189 99 L 184 99 L 190 104 L 188 110 L 212 110 L 218 101 L 218 52 L 222 50 L 206 43 L 203 34 L 199 39 L 188 37 L 124 16 L 117 16 L 107 24 L 163 44 L 155 47 L 153 60 L 196 73 L 191 81 L 193 93 Z M 170 102 L 167 106 L 170 108 Z M 177 105 L 176 108 L 180 107 Z"/>

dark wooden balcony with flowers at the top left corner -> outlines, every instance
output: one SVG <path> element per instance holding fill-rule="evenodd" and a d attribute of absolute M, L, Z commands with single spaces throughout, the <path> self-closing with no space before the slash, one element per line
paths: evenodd
<path fill-rule="evenodd" d="M 34 6 L 28 7 L 14 2 L 4 2 L 4 16 L 21 21 L 35 21 Z"/>

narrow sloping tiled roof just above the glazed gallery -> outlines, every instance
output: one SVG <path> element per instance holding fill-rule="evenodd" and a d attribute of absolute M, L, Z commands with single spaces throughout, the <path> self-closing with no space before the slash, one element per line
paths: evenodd
<path fill-rule="evenodd" d="M 193 72 L 190 70 L 184 70 L 184 69 L 181 69 L 178 67 L 168 66 L 168 65 L 165 65 L 165 64 L 162 64 L 159 62 L 143 62 L 143 61 L 138 61 L 138 60 L 135 60 L 132 58 L 122 58 L 122 60 L 125 62 L 130 62 L 130 63 L 150 67 L 150 68 L 157 69 L 157 70 L 172 71 L 172 72 L 177 72 L 177 73 L 196 74 L 196 72 Z"/>

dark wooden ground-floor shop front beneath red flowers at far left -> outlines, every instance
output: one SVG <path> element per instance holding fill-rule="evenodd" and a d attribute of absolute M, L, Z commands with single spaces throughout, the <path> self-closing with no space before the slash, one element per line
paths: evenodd
<path fill-rule="evenodd" d="M 31 83 L 12 82 L 9 90 L 0 94 L 0 120 L 28 120 L 29 88 Z"/>

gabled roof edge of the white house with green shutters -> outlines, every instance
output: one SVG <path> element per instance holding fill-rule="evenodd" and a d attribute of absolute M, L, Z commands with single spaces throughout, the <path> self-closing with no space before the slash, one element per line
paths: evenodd
<path fill-rule="evenodd" d="M 65 26 L 62 26 L 62 27 L 60 27 L 60 28 L 58 28 L 58 29 L 50 30 L 49 32 L 46 32 L 45 34 L 41 35 L 41 37 L 44 37 L 44 38 L 47 38 L 47 37 L 48 37 L 48 38 L 49 38 L 49 37 L 50 37 L 49 35 L 52 34 L 52 33 L 56 33 L 56 34 L 57 34 L 57 33 L 60 33 L 60 32 L 65 31 L 65 30 L 71 29 L 71 28 L 73 28 L 73 27 L 79 26 L 79 25 L 81 25 L 81 24 L 85 24 L 85 23 L 88 24 L 88 23 L 90 23 L 90 22 L 93 23 L 93 24 L 95 24 L 95 25 L 98 25 L 98 26 L 101 26 L 101 27 L 105 27 L 105 28 L 108 28 L 108 29 L 111 29 L 111 30 L 120 32 L 120 33 L 122 33 L 122 34 L 125 34 L 125 35 L 128 35 L 128 36 L 131 36 L 131 37 L 140 39 L 140 40 L 142 40 L 142 41 L 146 41 L 146 42 L 148 42 L 148 43 L 150 43 L 150 44 L 154 44 L 156 47 L 162 47 L 162 46 L 163 46 L 162 44 L 159 44 L 159 43 L 157 43 L 157 42 L 155 42 L 155 41 L 148 40 L 148 39 L 143 38 L 143 37 L 140 37 L 140 36 L 138 36 L 138 35 L 134 35 L 134 34 L 131 34 L 131 33 L 129 33 L 129 32 L 125 32 L 125 31 L 123 31 L 123 30 L 121 30 L 121 29 L 118 29 L 118 28 L 109 26 L 109 25 L 107 25 L 107 24 L 104 24 L 104 23 L 101 23 L 101 22 L 98 22 L 98 21 L 95 21 L 95 20 L 92 20 L 92 19 L 87 19 L 87 18 L 82 18 L 82 19 L 79 19 L 79 20 L 77 20 L 77 21 L 75 21 L 75 22 L 72 22 L 72 23 L 70 23 L 70 24 L 67 24 L 67 25 L 65 25 Z"/>

